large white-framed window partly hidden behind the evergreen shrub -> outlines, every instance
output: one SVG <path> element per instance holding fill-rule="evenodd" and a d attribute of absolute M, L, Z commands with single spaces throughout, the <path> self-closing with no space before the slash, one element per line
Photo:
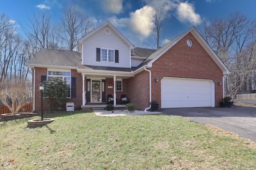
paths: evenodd
<path fill-rule="evenodd" d="M 47 79 L 51 79 L 54 77 L 61 78 L 69 87 L 68 90 L 68 98 L 71 98 L 71 72 L 66 71 L 48 71 Z"/>

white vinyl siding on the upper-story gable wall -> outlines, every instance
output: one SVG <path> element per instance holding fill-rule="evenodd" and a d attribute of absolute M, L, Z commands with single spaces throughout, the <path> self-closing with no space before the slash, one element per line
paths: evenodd
<path fill-rule="evenodd" d="M 106 34 L 106 28 L 110 29 L 110 27 L 104 27 L 84 40 L 82 47 L 84 63 L 82 64 L 130 68 L 130 47 L 112 29 L 110 34 Z M 96 48 L 118 50 L 119 63 L 96 61 Z"/>

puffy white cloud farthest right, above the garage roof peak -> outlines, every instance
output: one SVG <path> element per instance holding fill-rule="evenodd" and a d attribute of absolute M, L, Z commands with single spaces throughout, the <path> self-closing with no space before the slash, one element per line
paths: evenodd
<path fill-rule="evenodd" d="M 177 18 L 182 23 L 199 24 L 201 22 L 201 17 L 196 14 L 193 4 L 188 1 L 180 3 L 177 8 Z"/>

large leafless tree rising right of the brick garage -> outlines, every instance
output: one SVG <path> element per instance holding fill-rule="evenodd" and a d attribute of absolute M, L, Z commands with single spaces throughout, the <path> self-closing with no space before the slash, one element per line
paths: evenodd
<path fill-rule="evenodd" d="M 254 23 L 240 12 L 235 12 L 226 19 L 204 21 L 203 29 L 199 29 L 206 42 L 231 71 L 226 77 L 225 94 L 232 100 L 248 80 L 247 76 L 255 71 L 252 55 Z"/>

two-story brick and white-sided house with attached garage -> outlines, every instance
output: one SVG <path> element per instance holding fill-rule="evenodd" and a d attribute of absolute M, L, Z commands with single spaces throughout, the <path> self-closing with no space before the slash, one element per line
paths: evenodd
<path fill-rule="evenodd" d="M 134 47 L 109 21 L 82 37 L 78 52 L 42 49 L 26 66 L 33 70 L 34 111 L 38 85 L 52 76 L 68 84 L 75 109 L 104 106 L 109 95 L 119 106 L 122 94 L 137 109 L 150 109 L 151 100 L 160 109 L 218 107 L 230 73 L 195 27 L 153 50 Z"/>

